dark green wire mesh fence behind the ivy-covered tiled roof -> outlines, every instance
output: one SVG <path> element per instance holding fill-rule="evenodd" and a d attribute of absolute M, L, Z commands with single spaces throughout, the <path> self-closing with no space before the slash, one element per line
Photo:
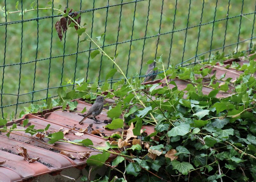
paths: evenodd
<path fill-rule="evenodd" d="M 56 97 L 59 87 L 74 88 L 78 78 L 104 80 L 114 67 L 103 55 L 91 59 L 97 48 L 72 30 L 60 42 L 54 25 L 62 15 L 43 10 L 48 6 L 81 12 L 81 25 L 87 24 L 92 38 L 102 35 L 101 48 L 118 55 L 127 76 L 147 76 L 147 60 L 159 55 L 169 67 L 196 64 L 216 51 L 250 51 L 255 38 L 256 2 L 249 0 L 4 0 L 0 5 L 2 116 L 13 110 L 16 115 L 21 104 Z M 119 79 L 116 74 L 108 81 Z"/>

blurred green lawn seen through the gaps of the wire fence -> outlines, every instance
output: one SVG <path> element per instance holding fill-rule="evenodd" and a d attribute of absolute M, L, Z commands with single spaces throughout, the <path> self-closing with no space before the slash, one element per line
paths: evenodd
<path fill-rule="evenodd" d="M 23 9 L 31 9 L 30 4 L 33 0 L 23 0 Z M 92 0 L 83 0 L 82 1 L 82 10 L 92 9 Z M 131 0 L 124 0 L 124 3 L 131 2 Z M 66 6 L 66 0 L 54 0 L 54 7 L 58 8 L 58 5 L 62 5 L 62 10 Z M 110 0 L 109 5 L 120 4 L 121 0 Z M 191 0 L 191 9 L 189 16 L 188 27 L 195 26 L 200 24 L 201 10 L 202 10 L 202 0 Z M 7 10 L 15 10 L 16 0 L 7 1 Z M 214 11 L 215 11 L 216 1 L 205 0 L 204 3 L 204 13 L 202 23 L 207 23 L 213 21 Z M 4 6 L 2 1 L 0 4 Z M 75 11 L 79 11 L 80 1 L 69 1 L 69 7 L 73 8 Z M 104 7 L 107 5 L 107 0 L 97 0 L 95 1 L 95 8 Z M 150 12 L 149 12 L 149 21 L 148 21 L 148 31 L 147 36 L 154 36 L 158 34 L 160 15 L 161 15 L 161 5 L 162 1 L 160 0 L 151 0 L 150 1 Z M 39 8 L 49 6 L 47 1 L 39 1 Z M 135 3 L 124 4 L 121 17 L 121 25 L 119 32 L 118 42 L 123 42 L 131 39 L 132 35 L 132 21 L 134 13 Z M 188 19 L 188 0 L 179 0 L 177 5 L 176 19 L 175 19 L 175 30 L 180 30 L 186 28 L 187 19 Z M 232 0 L 229 7 L 229 17 L 240 15 L 242 7 L 242 0 Z M 121 6 L 113 6 L 108 9 L 108 20 L 107 20 L 107 29 L 106 29 L 106 40 L 105 45 L 113 44 L 116 42 L 118 21 L 120 14 Z M 19 2 L 18 9 L 21 10 L 21 1 Z M 228 0 L 218 1 L 217 11 L 216 11 L 216 20 L 226 18 L 228 10 Z M 174 18 L 175 11 L 175 0 L 165 0 L 163 6 L 163 16 L 162 16 L 162 25 L 161 33 L 172 31 L 172 20 Z M 244 0 L 243 14 L 251 13 L 255 11 L 255 2 L 251 0 Z M 134 30 L 133 30 L 133 39 L 143 38 L 145 34 L 146 21 L 147 21 L 147 12 L 148 12 L 148 1 L 141 1 L 137 3 L 136 6 L 136 15 L 134 21 Z M 43 12 L 39 11 L 39 17 L 50 16 L 52 12 Z M 54 12 L 54 15 L 58 14 Z M 248 39 L 252 34 L 252 25 L 253 25 L 254 14 L 246 15 L 242 17 L 241 22 L 241 33 L 239 41 Z M 31 18 L 36 18 L 36 11 L 27 12 L 24 14 L 23 19 L 28 20 Z M 54 25 L 56 21 L 60 18 L 53 19 L 53 37 L 52 37 L 52 57 L 63 55 L 63 45 L 64 37 L 60 42 Z M 171 20 L 172 19 L 172 20 Z M 7 21 L 16 21 L 21 20 L 21 16 L 18 13 L 8 14 Z M 93 33 L 92 37 L 100 36 L 104 32 L 106 21 L 106 9 L 99 9 L 94 12 L 94 22 L 93 22 Z M 0 15 L 0 22 L 5 22 L 4 16 Z M 92 11 L 82 14 L 81 25 L 87 23 L 85 26 L 87 32 L 91 33 L 92 25 Z M 240 16 L 228 20 L 227 36 L 226 36 L 226 45 L 236 43 L 238 39 L 238 29 L 240 24 Z M 37 29 L 36 21 L 28 21 L 23 23 L 23 48 L 22 48 L 22 62 L 28 62 L 35 60 L 36 57 L 36 41 L 37 41 Z M 212 49 L 223 46 L 224 34 L 225 34 L 226 20 L 221 20 L 215 22 L 213 40 L 212 40 Z M 44 59 L 50 57 L 50 45 L 51 45 L 51 31 L 52 31 L 52 19 L 46 18 L 39 20 L 39 44 L 38 44 L 38 55 L 37 59 Z M 74 32 L 74 28 L 69 28 L 67 31 L 66 38 L 66 48 L 65 54 L 72 54 L 76 52 L 77 49 L 77 35 Z M 185 47 L 184 60 L 187 60 L 195 56 L 197 37 L 198 37 L 199 27 L 190 28 L 187 32 L 187 40 Z M 5 38 L 5 26 L 0 26 L 0 65 L 3 65 L 4 60 L 4 38 Z M 157 50 L 157 56 L 163 54 L 164 63 L 167 65 L 168 57 L 170 52 L 172 34 L 165 34 L 160 36 L 159 45 Z M 212 36 L 212 23 L 204 25 L 201 27 L 201 34 L 199 39 L 198 54 L 210 50 L 210 42 Z M 255 36 L 255 34 L 254 34 Z M 84 36 L 80 37 L 80 40 L 83 40 Z M 173 34 L 173 43 L 172 43 L 172 52 L 171 52 L 171 64 L 180 63 L 182 60 L 182 53 L 185 40 L 185 30 L 174 32 Z M 135 75 L 140 71 L 141 64 L 141 54 L 143 47 L 143 39 L 132 42 L 131 54 L 130 54 L 130 64 L 128 70 L 128 76 Z M 144 58 L 143 58 L 143 68 L 142 75 L 147 70 L 146 62 L 148 59 L 154 59 L 156 53 L 156 42 L 157 36 L 146 39 L 145 49 L 144 49 Z M 254 41 L 253 41 L 254 42 Z M 250 41 L 247 41 L 243 44 L 239 44 L 238 50 L 247 50 L 249 48 Z M 100 42 L 102 45 L 102 40 Z M 119 53 L 116 62 L 126 71 L 128 54 L 129 54 L 130 42 L 124 44 L 118 44 L 117 52 Z M 7 26 L 7 46 L 6 46 L 6 58 L 5 64 L 13 64 L 20 62 L 20 48 L 21 48 L 21 23 L 11 24 Z M 92 45 L 92 48 L 95 46 Z M 78 51 L 84 51 L 89 49 L 89 42 L 79 43 Z M 104 50 L 110 55 L 114 56 L 115 45 L 105 47 Z M 230 51 L 235 51 L 236 45 L 225 48 L 225 52 L 229 53 Z M 220 50 L 222 51 L 222 49 Z M 213 52 L 214 53 L 214 52 Z M 89 52 L 77 54 L 77 67 L 76 67 L 76 78 L 85 78 L 87 71 Z M 209 53 L 206 54 L 206 57 Z M 90 59 L 89 65 L 89 80 L 94 81 L 95 77 L 99 75 L 100 69 L 100 59 L 101 56 L 97 56 L 94 59 Z M 54 58 L 51 61 L 51 73 L 50 73 L 50 83 L 49 87 L 56 87 L 60 85 L 61 78 L 61 68 L 62 68 L 63 57 Z M 75 72 L 75 63 L 76 55 L 67 56 L 64 58 L 64 74 L 63 81 L 67 82 L 69 79 L 74 78 Z M 49 59 L 37 62 L 36 68 L 36 83 L 35 90 L 40 90 L 47 88 L 48 74 L 49 74 Z M 105 74 L 112 68 L 113 64 L 105 57 L 102 60 L 102 69 L 100 80 L 105 79 Z M 33 88 L 33 79 L 34 79 L 34 68 L 35 63 L 24 64 L 21 67 L 21 83 L 20 83 L 20 94 L 27 93 L 32 91 Z M 4 87 L 3 93 L 12 93 L 17 94 L 18 84 L 19 84 L 19 69 L 20 65 L 8 66 L 5 67 L 4 73 Z M 1 76 L 0 83 L 2 84 L 2 71 L 3 67 L 0 68 Z M 116 74 L 114 78 L 121 77 L 120 74 Z M 49 90 L 51 95 L 56 95 L 56 90 Z M 34 94 L 34 99 L 42 99 L 46 97 L 46 91 L 36 92 Z M 20 96 L 19 102 L 31 100 L 31 94 Z M 3 96 L 3 106 L 14 104 L 17 101 L 17 96 L 4 95 Z M 24 106 L 28 104 L 23 104 L 19 106 L 19 111 L 22 110 Z M 4 112 L 12 112 L 15 109 L 13 107 L 4 108 Z"/>

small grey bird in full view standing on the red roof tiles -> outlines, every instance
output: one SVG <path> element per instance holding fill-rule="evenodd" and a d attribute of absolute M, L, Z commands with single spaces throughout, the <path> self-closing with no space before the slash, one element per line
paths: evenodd
<path fill-rule="evenodd" d="M 94 102 L 94 104 L 92 104 L 92 107 L 89 109 L 89 111 L 87 112 L 87 114 L 84 116 L 84 118 L 79 122 L 79 124 L 83 123 L 83 121 L 89 117 L 89 116 L 93 116 L 96 123 L 98 122 L 98 120 L 95 118 L 97 115 L 99 115 L 103 109 L 103 100 L 104 97 L 103 96 L 98 96 L 96 98 L 96 101 Z"/>

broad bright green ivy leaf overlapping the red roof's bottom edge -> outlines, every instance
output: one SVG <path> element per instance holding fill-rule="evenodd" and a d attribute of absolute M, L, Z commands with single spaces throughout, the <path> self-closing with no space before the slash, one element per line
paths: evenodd
<path fill-rule="evenodd" d="M 106 150 L 103 150 L 102 154 L 92 155 L 86 161 L 89 166 L 101 167 L 108 160 L 110 153 L 107 153 Z"/>

